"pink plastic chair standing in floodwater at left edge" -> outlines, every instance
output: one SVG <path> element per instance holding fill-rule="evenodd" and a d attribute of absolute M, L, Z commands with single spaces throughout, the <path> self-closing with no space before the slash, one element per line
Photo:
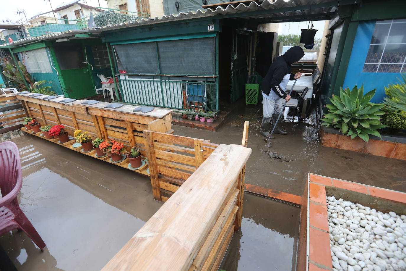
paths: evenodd
<path fill-rule="evenodd" d="M 46 246 L 37 230 L 18 205 L 17 195 L 22 187 L 18 147 L 11 141 L 0 143 L 0 236 L 14 229 L 23 230 L 43 251 Z"/>

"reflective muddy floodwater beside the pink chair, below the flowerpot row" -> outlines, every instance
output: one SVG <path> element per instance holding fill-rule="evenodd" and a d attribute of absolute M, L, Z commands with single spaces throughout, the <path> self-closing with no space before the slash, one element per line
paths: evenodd
<path fill-rule="evenodd" d="M 47 247 L 0 236 L 18 270 L 100 270 L 162 206 L 148 177 L 25 135 L 19 204 Z"/>

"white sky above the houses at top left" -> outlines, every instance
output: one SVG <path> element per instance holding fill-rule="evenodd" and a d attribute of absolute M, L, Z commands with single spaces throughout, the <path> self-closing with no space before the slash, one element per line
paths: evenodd
<path fill-rule="evenodd" d="M 31 17 L 51 11 L 51 6 L 53 9 L 56 9 L 57 6 L 60 4 L 68 4 L 73 2 L 73 0 L 1 0 L 1 9 L 0 9 L 0 23 L 8 24 L 10 22 L 6 22 L 6 20 L 11 21 L 11 23 L 22 19 L 25 21 L 25 16 L 23 14 L 17 15 L 17 10 L 25 11 L 27 19 L 29 20 Z M 93 7 L 100 7 L 99 3 L 102 7 L 107 7 L 107 2 L 105 0 L 82 0 L 84 4 L 88 4 L 89 6 Z"/>

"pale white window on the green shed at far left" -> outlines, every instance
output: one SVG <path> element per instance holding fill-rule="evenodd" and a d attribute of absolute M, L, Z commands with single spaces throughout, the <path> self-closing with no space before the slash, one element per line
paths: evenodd
<path fill-rule="evenodd" d="M 22 63 L 26 65 L 27 71 L 35 74 L 52 73 L 50 60 L 45 48 L 19 53 Z"/>

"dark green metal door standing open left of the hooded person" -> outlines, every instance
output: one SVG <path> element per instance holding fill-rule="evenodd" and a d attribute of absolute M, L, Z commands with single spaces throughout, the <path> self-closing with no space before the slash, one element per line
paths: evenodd
<path fill-rule="evenodd" d="M 241 33 L 233 35 L 233 55 L 231 62 L 231 97 L 230 102 L 235 102 L 244 96 L 247 81 L 247 55 L 250 36 Z"/>

